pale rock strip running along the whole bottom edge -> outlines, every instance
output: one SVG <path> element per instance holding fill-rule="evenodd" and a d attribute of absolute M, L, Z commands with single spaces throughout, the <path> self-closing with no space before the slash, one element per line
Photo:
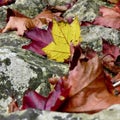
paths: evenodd
<path fill-rule="evenodd" d="M 28 109 L 12 114 L 0 114 L 0 120 L 120 120 L 120 105 L 114 105 L 102 112 L 88 114 L 71 114 Z"/>

